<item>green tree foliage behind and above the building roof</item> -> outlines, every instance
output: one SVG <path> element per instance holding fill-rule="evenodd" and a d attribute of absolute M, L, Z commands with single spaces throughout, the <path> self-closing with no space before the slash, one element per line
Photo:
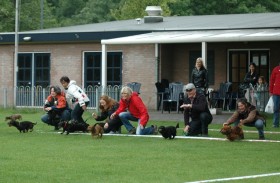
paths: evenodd
<path fill-rule="evenodd" d="M 15 29 L 15 0 L 0 0 L 0 32 Z M 19 0 L 19 30 L 134 19 L 147 6 L 163 16 L 280 12 L 280 0 Z M 43 16 L 41 3 L 43 2 Z M 42 18 L 41 18 L 42 17 Z"/>

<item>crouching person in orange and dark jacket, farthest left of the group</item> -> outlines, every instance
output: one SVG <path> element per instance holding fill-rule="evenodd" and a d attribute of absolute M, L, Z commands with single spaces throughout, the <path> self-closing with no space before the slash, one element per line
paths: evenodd
<path fill-rule="evenodd" d="M 44 114 L 41 117 L 42 122 L 54 126 L 58 130 L 58 122 L 60 120 L 70 120 L 71 110 L 68 108 L 65 94 L 61 92 L 59 86 L 50 87 L 50 95 L 47 97 L 44 107 Z"/>

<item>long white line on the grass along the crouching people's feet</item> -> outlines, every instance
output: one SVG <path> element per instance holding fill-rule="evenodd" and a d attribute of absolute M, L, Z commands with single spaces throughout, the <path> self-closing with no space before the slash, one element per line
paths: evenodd
<path fill-rule="evenodd" d="M 61 134 L 61 132 L 43 132 L 43 131 L 37 131 L 39 133 L 55 133 L 60 135 L 66 135 L 66 133 Z M 90 133 L 69 133 L 69 135 L 90 135 Z M 131 135 L 131 134 L 110 134 L 105 133 L 104 136 L 121 136 L 121 137 L 152 137 L 152 138 L 163 138 L 161 135 Z M 217 141 L 228 141 L 226 138 L 215 138 L 215 137 L 191 137 L 191 136 L 176 136 L 177 139 L 197 139 L 197 140 L 217 140 Z M 279 140 L 253 140 L 253 139 L 244 139 L 241 141 L 245 142 L 278 142 Z"/>

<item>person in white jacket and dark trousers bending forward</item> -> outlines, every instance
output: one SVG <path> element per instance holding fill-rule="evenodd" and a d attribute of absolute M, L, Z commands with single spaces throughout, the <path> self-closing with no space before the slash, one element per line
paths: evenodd
<path fill-rule="evenodd" d="M 82 115 L 89 104 L 87 94 L 76 85 L 76 81 L 70 81 L 68 76 L 62 76 L 60 78 L 60 83 L 66 91 L 66 99 L 70 99 L 74 103 L 71 112 L 71 120 L 78 123 L 84 123 L 85 121 L 83 120 Z"/>

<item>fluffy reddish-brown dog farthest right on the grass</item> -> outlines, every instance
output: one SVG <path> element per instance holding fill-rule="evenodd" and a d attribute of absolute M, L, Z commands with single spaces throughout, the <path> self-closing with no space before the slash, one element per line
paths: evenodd
<path fill-rule="evenodd" d="M 243 130 L 239 126 L 231 127 L 229 125 L 225 125 L 222 127 L 220 132 L 223 135 L 226 135 L 226 138 L 229 141 L 244 139 Z"/>

